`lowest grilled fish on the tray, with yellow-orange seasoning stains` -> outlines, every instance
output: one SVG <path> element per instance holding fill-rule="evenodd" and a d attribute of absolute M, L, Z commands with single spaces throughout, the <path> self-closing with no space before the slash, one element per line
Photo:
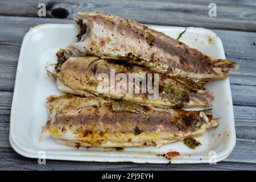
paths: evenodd
<path fill-rule="evenodd" d="M 48 122 L 41 139 L 52 136 L 60 143 L 85 147 L 160 146 L 199 135 L 218 125 L 211 110 L 144 107 L 143 113 L 134 113 L 117 111 L 115 106 L 114 111 L 113 103 L 93 97 L 49 96 Z"/>

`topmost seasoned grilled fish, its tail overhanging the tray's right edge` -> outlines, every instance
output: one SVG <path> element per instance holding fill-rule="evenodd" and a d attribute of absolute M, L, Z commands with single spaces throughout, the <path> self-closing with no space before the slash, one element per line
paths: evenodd
<path fill-rule="evenodd" d="M 226 71 L 236 67 L 232 61 L 209 57 L 134 20 L 99 13 L 78 13 L 75 20 L 83 35 L 66 49 L 81 56 L 131 61 L 162 73 L 171 69 L 168 75 L 199 81 L 224 79 Z"/>

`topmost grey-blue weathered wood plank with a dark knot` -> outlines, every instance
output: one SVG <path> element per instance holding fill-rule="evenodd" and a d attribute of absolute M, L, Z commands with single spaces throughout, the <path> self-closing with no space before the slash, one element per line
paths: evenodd
<path fill-rule="evenodd" d="M 212 1 L 44 1 L 48 18 L 68 18 L 77 11 L 99 11 L 120 15 L 142 23 L 195 26 L 229 30 L 256 31 L 255 1 L 216 0 L 217 17 L 210 17 Z M 1 15 L 38 17 L 38 1 L 1 1 Z M 189 16 L 188 16 L 189 13 Z"/>

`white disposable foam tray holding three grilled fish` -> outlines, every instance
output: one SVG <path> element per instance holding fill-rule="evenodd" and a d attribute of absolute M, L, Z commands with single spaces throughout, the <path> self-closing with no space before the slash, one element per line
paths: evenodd
<path fill-rule="evenodd" d="M 150 26 L 164 34 L 177 38 L 184 27 Z M 207 89 L 212 91 L 215 101 L 212 106 L 215 118 L 220 118 L 216 129 L 206 131 L 197 138 L 201 146 L 192 150 L 183 142 L 165 144 L 160 148 L 84 148 L 63 146 L 49 137 L 39 142 L 42 127 L 47 121 L 46 98 L 63 94 L 46 74 L 46 68 L 53 69 L 55 53 L 75 42 L 78 32 L 75 24 L 42 24 L 31 28 L 24 36 L 20 49 L 19 63 L 11 107 L 10 143 L 16 152 L 28 158 L 39 158 L 39 151 L 46 152 L 46 159 L 79 160 L 96 162 L 168 163 L 159 156 L 168 151 L 178 151 L 180 156 L 172 163 L 208 163 L 225 159 L 236 143 L 234 115 L 229 79 L 212 81 Z M 220 38 L 204 28 L 188 27 L 181 36 L 181 42 L 200 49 L 217 59 L 225 59 Z"/>

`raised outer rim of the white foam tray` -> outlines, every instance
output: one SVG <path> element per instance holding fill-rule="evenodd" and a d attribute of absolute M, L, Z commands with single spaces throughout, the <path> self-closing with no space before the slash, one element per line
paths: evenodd
<path fill-rule="evenodd" d="M 24 44 L 26 44 L 26 42 L 28 41 L 27 39 L 28 39 L 28 36 L 30 36 L 31 34 L 33 34 L 34 32 L 36 32 L 36 31 L 38 31 L 38 30 L 40 30 L 40 28 L 46 28 L 46 27 L 48 27 L 48 26 L 53 26 L 53 27 L 56 27 L 56 26 L 64 26 L 64 27 L 67 27 L 67 26 L 72 26 L 72 27 L 74 27 L 75 26 L 75 24 L 60 24 L 60 23 L 45 23 L 45 24 L 39 24 L 38 26 L 35 26 L 35 27 L 33 27 L 33 28 L 31 28 L 25 35 L 24 35 L 24 38 L 23 38 L 23 41 L 22 41 L 22 45 L 21 45 L 21 47 L 20 47 L 20 53 L 19 53 L 19 59 L 18 59 L 18 65 L 17 65 L 17 68 L 16 68 L 16 76 L 15 76 L 15 84 L 14 84 L 14 92 L 13 92 L 13 101 L 12 101 L 12 104 L 11 104 L 11 113 L 10 113 L 10 131 L 9 131 L 9 140 L 10 140 L 10 144 L 11 144 L 11 147 L 13 147 L 13 149 L 18 153 L 18 154 L 20 154 L 20 155 L 22 155 L 22 156 L 25 156 L 25 157 L 27 157 L 27 158 L 38 158 L 38 155 L 34 152 L 34 153 L 32 153 L 32 152 L 30 152 L 30 151 L 28 151 L 28 150 L 26 150 L 26 148 L 22 148 L 22 147 L 20 147 L 18 144 L 16 144 L 15 142 L 14 142 L 14 140 L 13 140 L 13 137 L 12 137 L 12 129 L 13 129 L 13 120 L 14 120 L 14 107 L 16 107 L 16 102 L 14 102 L 15 100 L 16 100 L 16 97 L 18 97 L 18 91 L 17 91 L 17 82 L 18 82 L 18 80 L 19 80 L 19 67 L 20 67 L 20 64 L 22 64 L 22 62 L 20 61 L 20 60 L 22 60 L 22 55 L 23 55 L 23 49 L 24 49 Z M 175 27 L 175 26 L 159 26 L 159 25 L 155 25 L 155 24 L 150 24 L 150 26 L 155 26 L 155 27 L 162 27 L 162 28 L 185 28 L 185 27 Z M 200 27 L 188 27 L 188 28 L 195 28 L 196 30 L 198 30 L 198 29 L 204 29 L 204 31 L 208 31 L 210 34 L 213 34 L 213 35 L 217 35 L 217 34 L 215 34 L 213 31 L 211 31 L 211 30 L 208 30 L 208 29 L 206 29 L 206 28 L 200 28 Z M 221 39 L 219 39 L 219 41 L 220 41 L 220 44 L 221 44 L 221 47 L 222 47 L 222 50 L 224 51 L 224 47 L 223 47 L 223 45 L 222 45 L 222 42 L 221 42 Z M 224 57 L 225 57 L 225 55 L 224 55 Z M 220 154 L 221 154 L 221 152 L 220 153 L 218 153 L 217 154 L 217 158 L 216 158 L 216 162 L 219 162 L 219 161 L 221 161 L 221 160 L 224 160 L 225 158 L 227 158 L 230 154 L 231 154 L 231 152 L 232 152 L 232 150 L 233 150 L 233 148 L 235 147 L 235 145 L 236 145 L 236 129 L 235 129 L 235 122 L 234 122 L 234 111 L 233 111 L 233 101 L 232 101 L 232 95 L 231 95 L 231 89 L 230 89 L 230 82 L 229 82 L 229 78 L 226 78 L 227 80 L 228 80 L 228 84 L 229 84 L 229 94 L 230 94 L 230 98 L 231 98 L 231 100 L 230 100 L 230 105 L 232 105 L 232 107 L 231 107 L 231 111 L 232 111 L 232 115 L 231 115 L 231 117 L 232 117 L 232 119 L 230 119 L 230 120 L 232 120 L 232 123 L 233 123 L 233 127 L 232 127 L 232 133 L 233 133 L 233 137 L 232 138 L 230 138 L 230 143 L 228 143 L 227 144 L 227 149 L 226 150 L 224 150 L 224 152 L 225 151 L 227 151 L 227 152 L 225 152 L 225 154 L 222 154 L 221 156 L 220 156 Z M 222 152 L 223 153 L 223 152 Z M 52 157 L 51 157 L 52 156 Z M 86 155 L 85 155 L 86 156 Z M 81 156 L 75 156 L 75 158 L 81 158 Z M 86 156 L 86 157 L 88 157 L 88 156 Z M 84 158 L 84 159 L 86 159 L 86 157 Z M 134 158 L 134 160 L 123 160 L 123 159 L 125 159 L 125 158 L 121 158 L 121 156 L 117 156 L 117 157 L 113 157 L 113 156 L 108 156 L 108 158 L 109 159 L 113 159 L 113 160 L 104 160 L 104 159 L 102 159 L 102 156 L 94 156 L 95 158 L 94 158 L 94 160 L 81 160 L 81 159 L 77 159 L 77 160 L 75 160 L 75 159 L 65 159 L 65 155 L 59 155 L 59 156 L 56 156 L 56 155 L 53 155 L 53 154 L 51 154 L 50 155 L 50 158 L 48 158 L 48 159 L 57 159 L 57 160 L 75 160 L 75 161 L 86 161 L 86 162 L 133 162 L 133 163 L 168 163 L 168 160 L 166 160 L 165 162 L 153 162 L 153 161 L 151 161 L 152 159 L 150 159 L 150 158 L 142 158 L 142 160 L 138 160 L 139 158 Z M 115 160 L 115 159 L 120 159 L 121 158 L 121 160 Z M 144 160 L 143 160 L 144 159 Z M 162 159 L 162 158 L 160 158 L 160 159 Z M 204 159 L 202 159 L 202 160 L 200 160 L 200 161 L 198 161 L 198 159 L 196 160 L 196 159 L 192 159 L 192 158 L 188 158 L 189 159 L 189 162 L 183 162 L 183 160 L 181 159 L 181 160 L 179 160 L 179 158 L 174 158 L 174 159 L 172 159 L 172 163 L 177 163 L 177 164 L 184 164 L 184 163 L 190 163 L 190 164 L 192 164 L 192 163 L 207 163 L 207 159 L 209 159 L 209 158 L 204 158 Z M 159 159 L 156 159 L 156 160 L 159 160 Z"/>

